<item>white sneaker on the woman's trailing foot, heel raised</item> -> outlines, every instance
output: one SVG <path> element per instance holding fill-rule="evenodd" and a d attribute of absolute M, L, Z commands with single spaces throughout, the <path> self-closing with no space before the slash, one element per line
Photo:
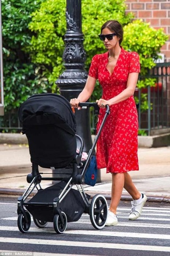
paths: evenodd
<path fill-rule="evenodd" d="M 144 194 L 141 194 L 141 195 L 143 198 L 141 199 L 140 203 L 137 203 L 136 200 L 131 201 L 132 211 L 129 215 L 129 220 L 136 220 L 136 219 L 138 219 L 138 217 L 141 214 L 142 208 L 147 200 L 146 195 L 144 195 Z"/>

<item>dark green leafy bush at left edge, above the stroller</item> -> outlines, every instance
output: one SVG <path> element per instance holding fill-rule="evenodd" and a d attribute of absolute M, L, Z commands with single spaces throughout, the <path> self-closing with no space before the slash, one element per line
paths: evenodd
<path fill-rule="evenodd" d="M 42 0 L 2 0 L 2 36 L 4 68 L 5 112 L 12 111 L 31 94 L 47 91 L 46 83 L 35 75 L 35 64 L 23 47 L 30 44 L 32 37 L 28 24 L 31 13 Z M 39 85 L 41 84 L 41 86 Z"/>

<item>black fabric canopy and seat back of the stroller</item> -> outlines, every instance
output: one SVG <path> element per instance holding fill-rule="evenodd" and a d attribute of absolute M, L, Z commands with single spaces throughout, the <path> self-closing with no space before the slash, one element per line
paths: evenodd
<path fill-rule="evenodd" d="M 76 121 L 70 102 L 57 94 L 37 94 L 19 108 L 22 133 L 29 141 L 31 162 L 66 167 L 76 157 Z"/>

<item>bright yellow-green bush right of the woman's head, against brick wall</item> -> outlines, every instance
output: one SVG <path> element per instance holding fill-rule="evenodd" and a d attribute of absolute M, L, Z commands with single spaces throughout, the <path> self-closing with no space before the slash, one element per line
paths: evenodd
<path fill-rule="evenodd" d="M 168 36 L 163 29 L 156 30 L 142 20 L 134 20 L 124 26 L 122 46 L 128 51 L 138 52 L 140 56 L 141 72 L 137 84 L 139 89 L 155 86 L 156 80 L 149 77 L 149 70 L 156 66 L 154 61 L 159 58 L 158 53 L 166 40 Z M 149 108 L 147 96 L 147 94 L 141 94 L 141 112 Z M 138 104 L 137 97 L 135 101 Z"/>

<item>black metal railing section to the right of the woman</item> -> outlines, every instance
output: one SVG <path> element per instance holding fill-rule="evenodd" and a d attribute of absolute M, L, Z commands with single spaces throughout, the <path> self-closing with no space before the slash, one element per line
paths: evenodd
<path fill-rule="evenodd" d="M 155 78 L 155 87 L 140 89 L 138 95 L 139 130 L 148 135 L 170 132 L 170 63 L 158 63 L 149 72 Z M 141 94 L 147 93 L 148 110 L 141 112 Z"/>

